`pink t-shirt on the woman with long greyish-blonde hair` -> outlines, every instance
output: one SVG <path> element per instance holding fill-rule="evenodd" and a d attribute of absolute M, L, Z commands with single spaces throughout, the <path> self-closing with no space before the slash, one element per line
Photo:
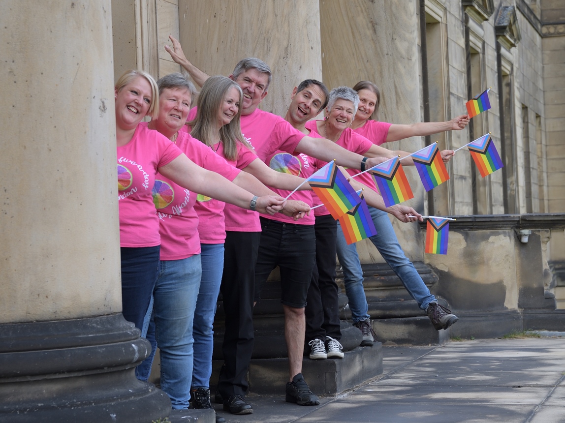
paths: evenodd
<path fill-rule="evenodd" d="M 204 144 L 202 144 L 204 145 Z M 237 143 L 238 160 L 227 160 L 224 158 L 224 148 L 223 144 L 217 143 L 214 147 L 207 147 L 210 151 L 218 157 L 219 160 L 223 160 L 225 165 L 223 167 L 229 167 L 229 169 L 236 169 L 237 172 L 241 172 L 239 167 L 246 167 L 253 160 L 257 159 L 257 155 L 242 143 Z M 233 179 L 238 175 L 233 176 L 233 178 L 228 177 L 225 173 L 225 169 L 220 168 L 220 165 L 214 170 L 220 175 L 233 181 Z M 194 208 L 198 213 L 199 223 L 198 223 L 198 234 L 200 236 L 200 242 L 203 244 L 222 244 L 225 241 L 225 213 L 224 206 L 226 204 L 220 200 L 214 198 L 206 197 L 205 195 L 198 194 L 196 204 Z M 254 215 L 257 213 L 249 211 Z"/>

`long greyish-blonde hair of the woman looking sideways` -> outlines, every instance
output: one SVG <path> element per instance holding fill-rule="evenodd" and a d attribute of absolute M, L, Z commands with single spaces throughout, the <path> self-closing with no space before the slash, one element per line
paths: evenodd
<path fill-rule="evenodd" d="M 214 143 L 218 142 L 218 111 L 225 96 L 228 95 L 228 91 L 233 87 L 237 88 L 240 94 L 240 107 L 231 122 L 219 129 L 220 142 L 224 146 L 224 156 L 228 160 L 237 159 L 238 142 L 251 149 L 251 146 L 241 134 L 240 117 L 244 94 L 237 82 L 221 75 L 208 78 L 198 95 L 196 117 L 188 123 L 192 127 L 190 135 L 207 146 L 213 146 Z"/>

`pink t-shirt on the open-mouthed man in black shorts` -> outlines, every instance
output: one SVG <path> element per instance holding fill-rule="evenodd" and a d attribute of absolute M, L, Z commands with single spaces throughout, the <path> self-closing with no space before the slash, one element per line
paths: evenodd
<path fill-rule="evenodd" d="M 278 150 L 275 154 L 268 156 L 265 163 L 277 171 L 290 173 L 291 175 L 300 176 L 302 178 L 307 178 L 312 176 L 312 173 L 318 170 L 316 165 L 318 164 L 318 159 L 311 158 L 306 154 L 292 155 L 289 152 Z M 290 191 L 281 190 L 277 188 L 272 188 L 275 193 L 279 194 L 281 197 L 286 198 Z M 301 200 L 312 207 L 312 191 L 296 191 L 292 194 L 290 199 Z M 317 210 L 317 209 L 316 209 Z M 314 210 L 314 211 L 316 211 Z M 276 220 L 282 223 L 293 223 L 298 225 L 314 225 L 314 213 L 310 213 L 310 216 L 304 216 L 302 219 L 294 220 L 292 217 L 285 216 L 282 213 L 275 213 L 275 215 L 261 215 L 267 219 Z"/>

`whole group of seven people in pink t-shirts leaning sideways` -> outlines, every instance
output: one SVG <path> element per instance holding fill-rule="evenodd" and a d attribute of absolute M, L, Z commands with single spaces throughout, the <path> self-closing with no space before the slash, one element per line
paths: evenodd
<path fill-rule="evenodd" d="M 209 77 L 170 38 L 172 47 L 165 49 L 201 87 L 199 93 L 181 73 L 155 81 L 146 72 L 128 71 L 115 85 L 123 315 L 152 347 L 136 376 L 149 378 L 159 348 L 160 387 L 172 407 L 212 408 L 213 323 L 221 292 L 224 363 L 216 402 L 236 415 L 253 413 L 245 399 L 253 307 L 278 266 L 289 358 L 286 401 L 318 405 L 302 376 L 302 359 L 306 344 L 310 359 L 344 357 L 336 253 L 362 345 L 371 345 L 374 333 L 355 245 L 347 245 L 305 178 L 332 160 L 349 176 L 408 155 L 380 145 L 463 129 L 468 116 L 381 123 L 375 120 L 380 93 L 371 82 L 328 92 L 322 82 L 305 80 L 290 95 L 283 119 L 258 108 L 272 77 L 262 60 L 246 58 L 229 77 Z M 324 110 L 325 120 L 312 120 Z M 444 162 L 453 155 L 441 152 Z M 370 206 L 377 229 L 371 241 L 434 327 L 449 327 L 457 316 L 429 293 L 387 213 L 403 222 L 421 215 L 399 204 L 386 208 L 370 177 L 350 181 L 364 189 Z M 320 207 L 310 211 L 314 206 Z M 216 414 L 216 421 L 225 419 Z"/>

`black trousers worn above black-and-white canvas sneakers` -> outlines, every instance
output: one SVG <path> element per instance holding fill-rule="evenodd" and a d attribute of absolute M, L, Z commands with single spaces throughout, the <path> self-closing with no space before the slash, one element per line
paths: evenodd
<path fill-rule="evenodd" d="M 331 215 L 316 216 L 316 265 L 306 304 L 306 343 L 325 337 L 341 339 L 336 284 L 337 221 Z"/>

